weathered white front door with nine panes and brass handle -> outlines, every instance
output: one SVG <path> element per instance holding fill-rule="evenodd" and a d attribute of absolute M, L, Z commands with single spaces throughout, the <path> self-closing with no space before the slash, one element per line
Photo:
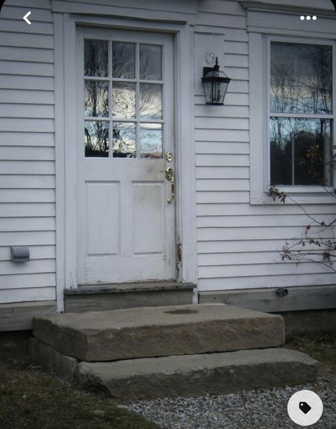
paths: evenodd
<path fill-rule="evenodd" d="M 172 36 L 80 28 L 77 93 L 78 283 L 174 279 Z"/>

